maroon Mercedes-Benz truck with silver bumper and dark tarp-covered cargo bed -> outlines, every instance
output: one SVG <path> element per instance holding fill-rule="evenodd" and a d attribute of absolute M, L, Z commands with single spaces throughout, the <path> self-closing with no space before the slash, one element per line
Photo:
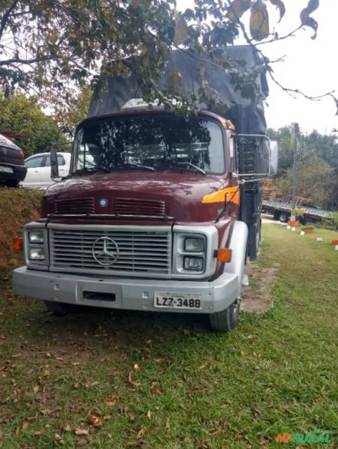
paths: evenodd
<path fill-rule="evenodd" d="M 227 51 L 257 63 L 249 46 Z M 185 89 L 207 65 L 186 52 L 170 58 L 168 72 L 170 64 Z M 132 77 L 111 79 L 94 98 L 77 126 L 70 174 L 46 190 L 41 219 L 25 226 L 15 293 L 56 314 L 74 305 L 204 313 L 213 330 L 236 327 L 270 148 L 262 103 L 243 99 L 217 67 L 206 70 L 232 105 L 226 115 L 149 107 Z M 258 84 L 263 98 L 264 74 Z"/>

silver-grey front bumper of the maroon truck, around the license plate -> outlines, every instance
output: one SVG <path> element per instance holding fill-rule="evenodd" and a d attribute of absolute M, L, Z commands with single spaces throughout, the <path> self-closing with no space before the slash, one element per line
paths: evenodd
<path fill-rule="evenodd" d="M 13 271 L 12 287 L 25 297 L 77 304 L 139 311 L 215 313 L 223 311 L 239 296 L 237 275 L 224 273 L 213 282 L 192 280 L 154 280 L 129 278 L 102 278 L 89 275 L 70 275 L 30 270 L 25 266 Z M 95 299 L 89 299 L 93 292 Z M 203 307 L 156 308 L 155 292 L 171 294 L 201 294 Z M 100 299 L 100 294 L 105 298 Z M 107 295 L 114 300 L 106 300 Z"/>

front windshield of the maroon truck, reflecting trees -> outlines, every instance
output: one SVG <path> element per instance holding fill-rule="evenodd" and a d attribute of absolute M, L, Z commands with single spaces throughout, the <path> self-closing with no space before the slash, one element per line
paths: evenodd
<path fill-rule="evenodd" d="M 75 136 L 73 173 L 196 169 L 223 174 L 223 133 L 205 117 L 125 115 L 84 122 Z"/>

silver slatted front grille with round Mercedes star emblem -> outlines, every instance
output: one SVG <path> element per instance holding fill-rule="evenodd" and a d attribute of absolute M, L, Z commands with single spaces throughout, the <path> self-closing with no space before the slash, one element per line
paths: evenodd
<path fill-rule="evenodd" d="M 171 273 L 171 230 L 167 226 L 54 224 L 49 226 L 49 245 L 51 271 L 140 277 Z M 102 254 L 104 249 L 106 254 Z"/>

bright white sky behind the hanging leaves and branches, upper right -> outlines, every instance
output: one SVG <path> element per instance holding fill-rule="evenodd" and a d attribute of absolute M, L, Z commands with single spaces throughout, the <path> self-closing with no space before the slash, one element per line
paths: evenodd
<path fill-rule="evenodd" d="M 178 8 L 184 11 L 192 6 L 189 0 L 178 0 Z M 269 2 L 268 2 L 269 3 Z M 275 30 L 279 36 L 288 34 L 300 25 L 299 13 L 308 4 L 308 0 L 284 0 L 287 13 Z M 270 17 L 270 32 L 273 31 L 278 15 L 274 6 L 269 12 L 276 11 Z M 249 11 L 244 18 L 249 18 Z M 295 37 L 258 46 L 270 60 L 282 56 L 284 61 L 273 65 L 274 75 L 282 86 L 299 89 L 308 96 L 318 96 L 334 91 L 338 97 L 338 1 L 320 0 L 319 8 L 311 14 L 317 20 L 318 36 L 311 39 L 313 30 L 304 27 Z M 238 41 L 237 44 L 243 42 Z M 321 134 L 331 134 L 338 129 L 337 108 L 330 97 L 320 101 L 311 101 L 297 96 L 296 99 L 282 91 L 268 77 L 270 95 L 265 106 L 268 127 L 278 129 L 298 122 L 304 133 L 317 129 Z"/>

